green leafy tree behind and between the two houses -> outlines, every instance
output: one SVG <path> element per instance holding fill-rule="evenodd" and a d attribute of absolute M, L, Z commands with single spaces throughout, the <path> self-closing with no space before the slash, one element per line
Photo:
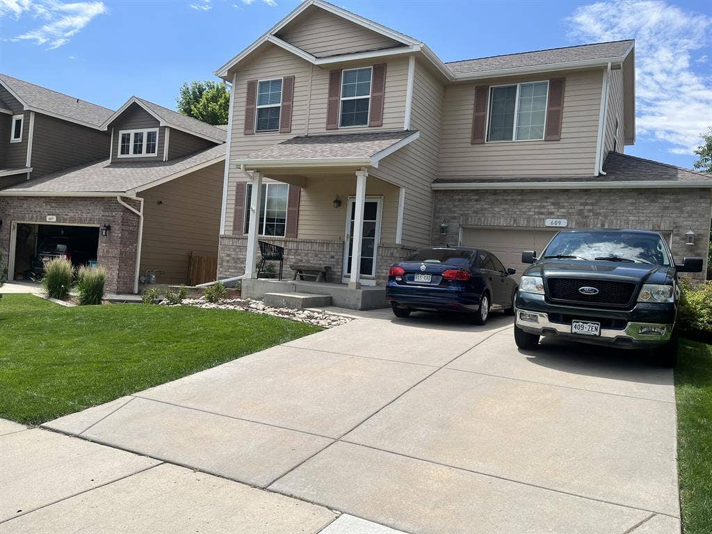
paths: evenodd
<path fill-rule="evenodd" d="M 224 83 L 194 80 L 181 85 L 178 112 L 211 125 L 227 124 L 230 93 Z"/>

